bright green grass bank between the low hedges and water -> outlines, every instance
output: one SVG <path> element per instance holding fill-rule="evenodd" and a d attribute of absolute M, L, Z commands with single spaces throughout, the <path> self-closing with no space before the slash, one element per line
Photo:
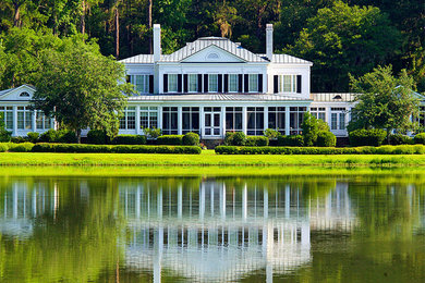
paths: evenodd
<path fill-rule="evenodd" d="M 202 155 L 151 153 L 0 153 L 0 165 L 132 165 L 132 167 L 423 167 L 425 155 L 216 155 L 204 150 Z"/>

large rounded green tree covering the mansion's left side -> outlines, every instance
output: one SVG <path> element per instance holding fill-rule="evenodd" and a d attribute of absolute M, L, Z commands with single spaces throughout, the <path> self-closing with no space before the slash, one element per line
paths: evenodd
<path fill-rule="evenodd" d="M 125 106 L 123 93 L 132 91 L 130 84 L 120 84 L 123 78 L 121 63 L 101 56 L 95 42 L 72 37 L 41 57 L 32 104 L 75 131 L 78 143 L 86 127 L 105 130 L 112 137 Z"/>

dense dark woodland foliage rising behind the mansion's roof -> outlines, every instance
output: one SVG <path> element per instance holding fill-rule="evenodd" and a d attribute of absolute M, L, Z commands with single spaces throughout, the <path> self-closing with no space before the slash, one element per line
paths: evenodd
<path fill-rule="evenodd" d="M 162 25 L 166 53 L 202 36 L 226 36 L 264 53 L 265 27 L 272 23 L 276 52 L 315 63 L 313 91 L 345 91 L 349 73 L 389 63 L 396 72 L 406 69 L 425 90 L 422 0 L 4 0 L 1 85 L 33 82 L 37 53 L 54 46 L 54 37 L 84 34 L 104 56 L 119 59 L 149 53 L 154 23 Z"/>

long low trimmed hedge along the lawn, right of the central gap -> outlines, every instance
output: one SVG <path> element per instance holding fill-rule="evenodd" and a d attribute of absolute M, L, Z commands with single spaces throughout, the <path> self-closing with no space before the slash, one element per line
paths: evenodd
<path fill-rule="evenodd" d="M 218 146 L 217 155 L 423 155 L 425 146 L 381 147 L 235 147 Z"/>

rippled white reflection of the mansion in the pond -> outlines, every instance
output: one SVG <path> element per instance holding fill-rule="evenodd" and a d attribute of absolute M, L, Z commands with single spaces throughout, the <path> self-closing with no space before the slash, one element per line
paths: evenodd
<path fill-rule="evenodd" d="M 198 281 L 229 281 L 264 269 L 271 280 L 274 273 L 308 263 L 312 227 L 352 218 L 347 184 L 337 185 L 325 205 L 314 209 L 290 185 L 270 192 L 248 186 L 208 180 L 198 190 L 122 185 L 127 267 L 154 270 L 157 282 L 161 270 Z"/>

